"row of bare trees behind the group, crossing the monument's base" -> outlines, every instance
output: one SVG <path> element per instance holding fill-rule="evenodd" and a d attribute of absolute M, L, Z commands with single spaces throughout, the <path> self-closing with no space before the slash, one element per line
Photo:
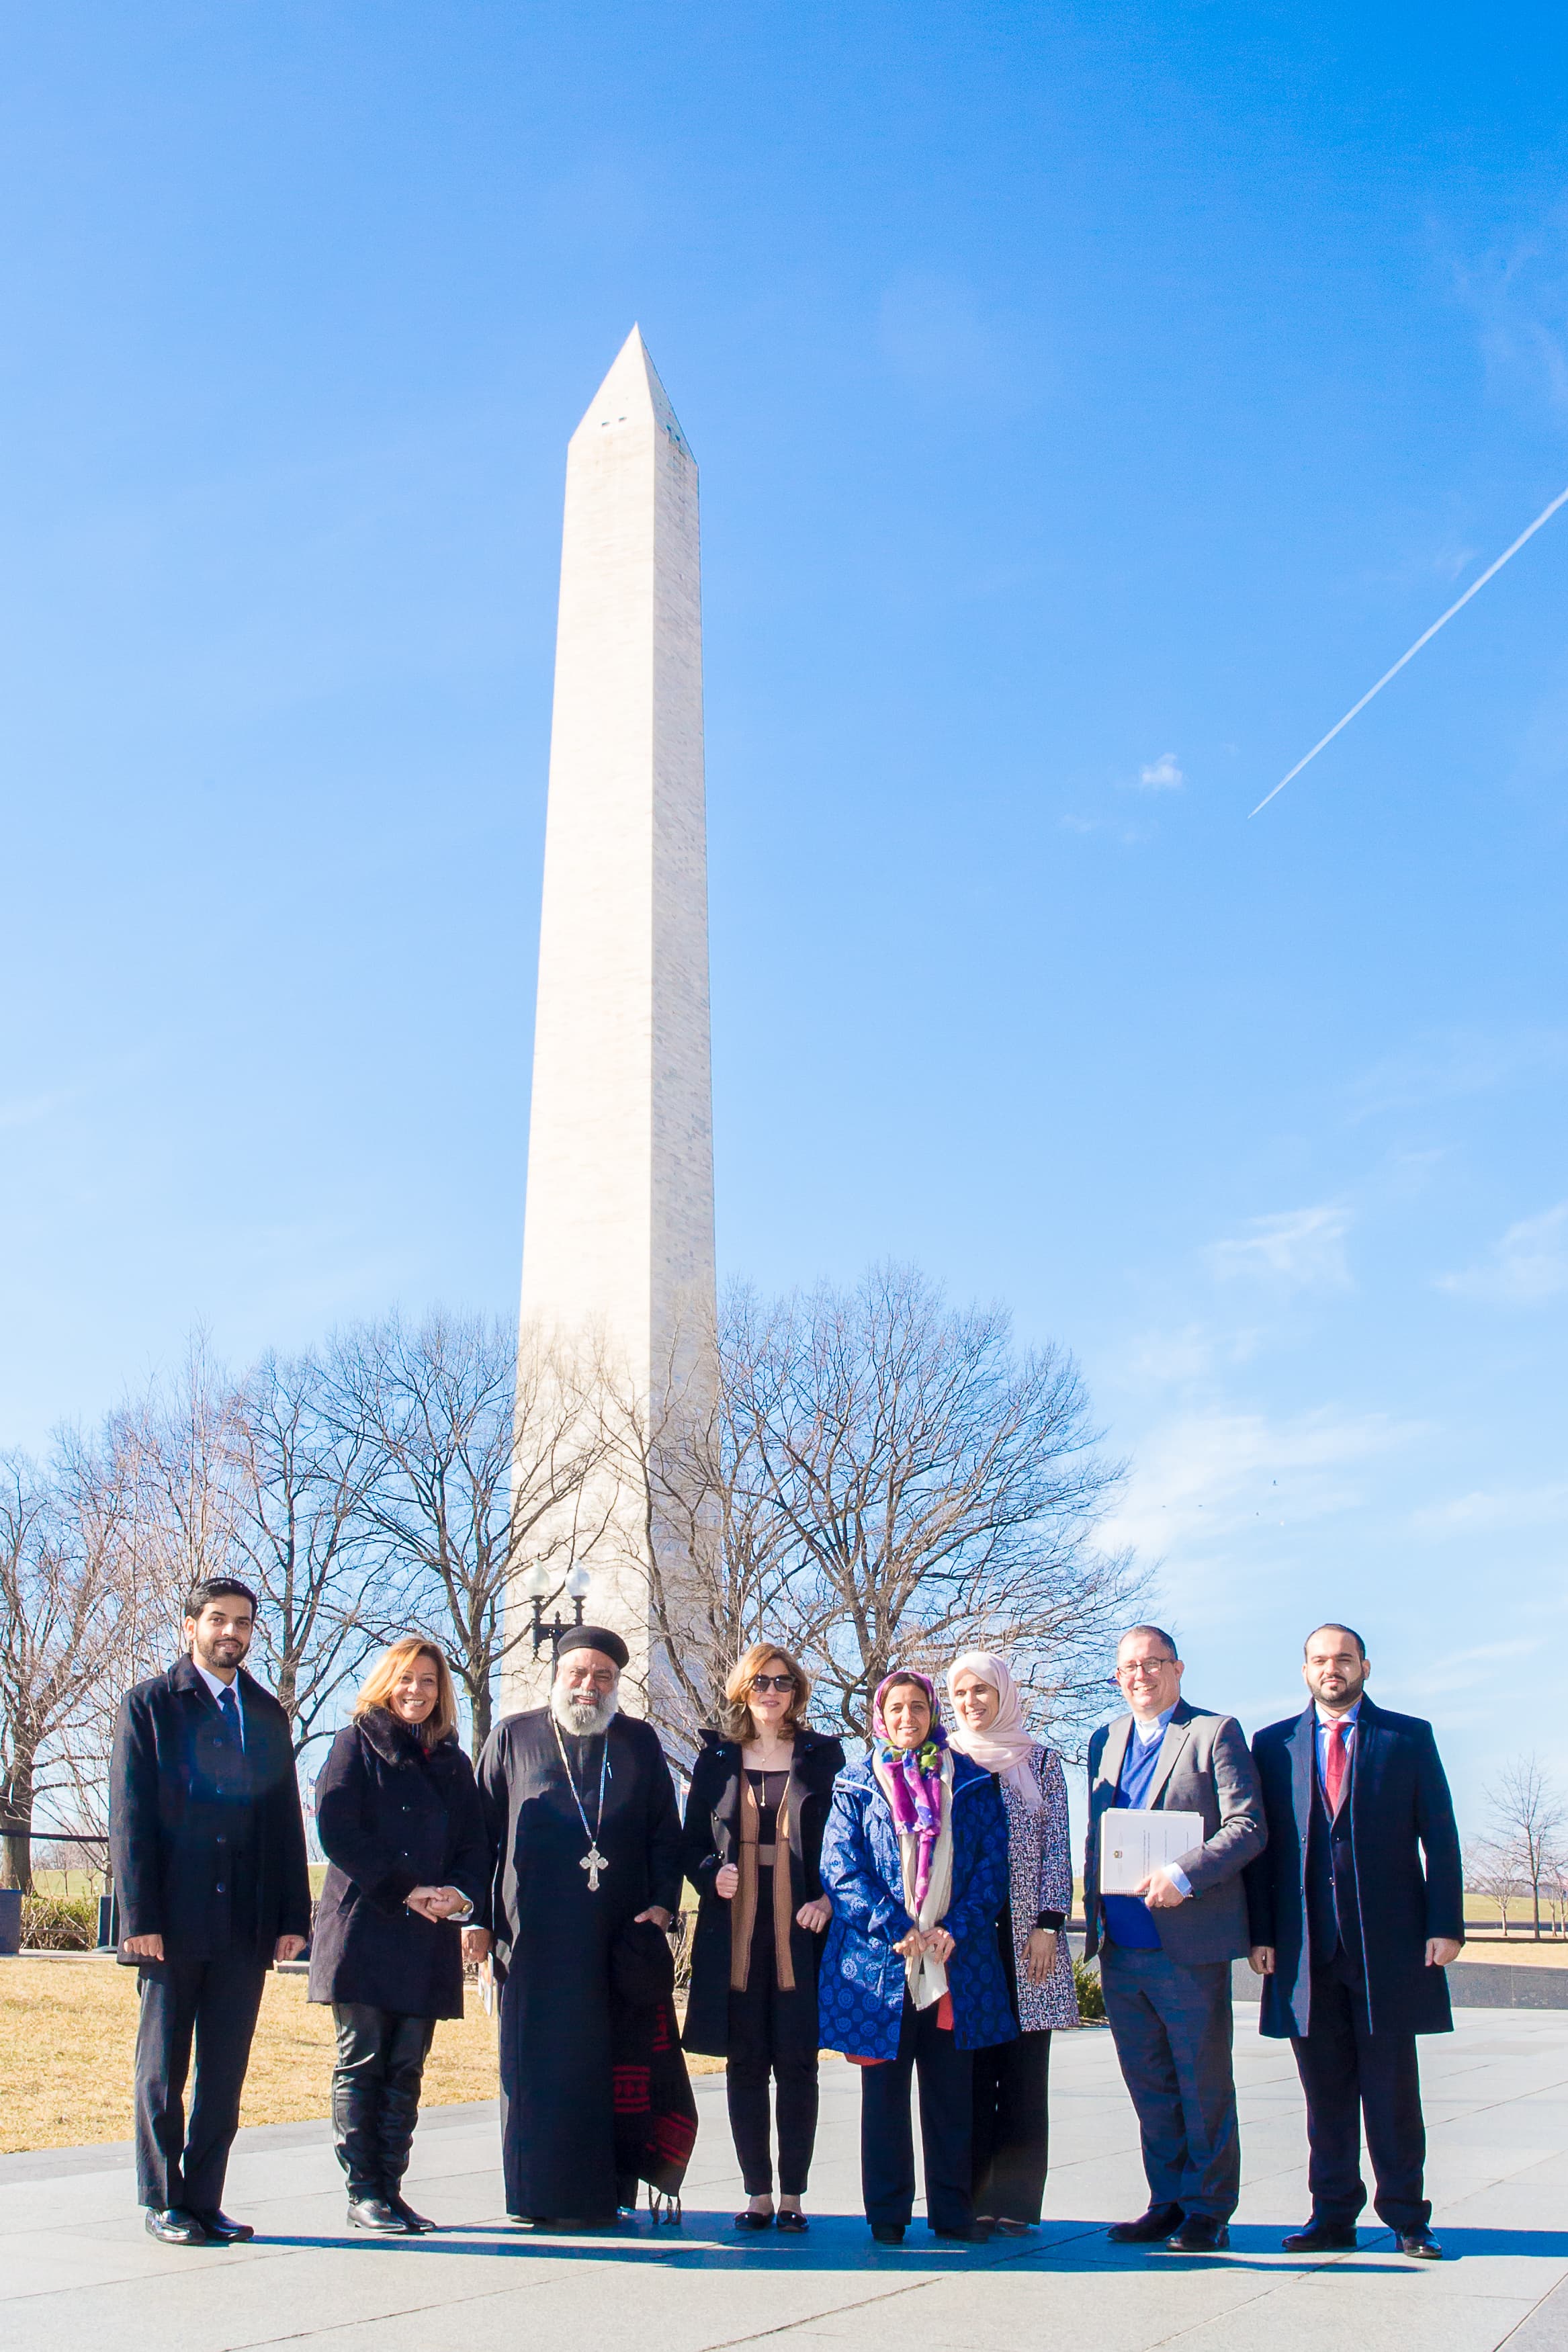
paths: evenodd
<path fill-rule="evenodd" d="M 252 1668 L 296 1755 L 409 1628 L 447 1651 L 477 1748 L 527 1639 L 508 1588 L 541 1562 L 557 1588 L 592 1569 L 609 1491 L 639 1505 L 644 1698 L 677 1752 L 762 1630 L 849 1733 L 896 1658 L 1006 1646 L 1072 1748 L 1143 1599 L 1095 1541 L 1121 1468 L 1072 1359 L 1016 1350 L 1004 1312 L 907 1268 L 766 1303 L 733 1289 L 712 1341 L 684 1362 L 717 1362 L 717 1383 L 672 1371 L 649 1406 L 602 1359 L 520 1350 L 482 1317 L 390 1315 L 242 1378 L 197 1338 L 94 1435 L 0 1458 L 2 1882 L 31 1884 L 35 1820 L 103 1830 L 115 1708 L 176 1653 L 200 1578 L 261 1595 Z"/>

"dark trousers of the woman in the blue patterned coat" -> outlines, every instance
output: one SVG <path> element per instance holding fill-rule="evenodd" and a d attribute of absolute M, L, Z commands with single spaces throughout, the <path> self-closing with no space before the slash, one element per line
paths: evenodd
<path fill-rule="evenodd" d="M 914 2126 L 910 2074 L 919 2077 L 919 2140 L 926 2157 L 926 2220 L 933 2230 L 973 2223 L 971 2053 L 936 2023 L 936 2004 L 914 2009 L 905 1992 L 898 2056 L 860 2067 L 860 2192 L 865 2218 L 907 2227 L 914 2211 Z"/>

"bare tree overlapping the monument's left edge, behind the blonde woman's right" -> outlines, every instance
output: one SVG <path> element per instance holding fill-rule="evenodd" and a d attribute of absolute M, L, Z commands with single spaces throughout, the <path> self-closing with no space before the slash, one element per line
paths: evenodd
<path fill-rule="evenodd" d="M 489 1736 L 494 1682 L 527 1637 L 505 1625 L 512 1576 L 592 1548 L 578 1526 L 604 1435 L 571 1364 L 545 1345 L 517 1357 L 501 1322 L 430 1315 L 364 1324 L 331 1350 L 343 1442 L 378 1456 L 364 1512 L 386 1543 L 381 1639 L 440 1639 L 468 1696 L 475 1750 Z"/>

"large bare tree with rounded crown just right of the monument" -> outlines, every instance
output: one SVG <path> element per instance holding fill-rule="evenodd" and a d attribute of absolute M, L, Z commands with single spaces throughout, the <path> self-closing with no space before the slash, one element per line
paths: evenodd
<path fill-rule="evenodd" d="M 712 1708 L 722 1665 L 766 1632 L 863 1733 L 889 1665 L 992 1642 L 1072 1733 L 1138 1599 L 1131 1559 L 1093 1543 L 1121 1472 L 1072 1359 L 1020 1357 L 1004 1312 L 877 1268 L 853 1291 L 773 1305 L 731 1291 L 719 1364 L 696 1435 L 675 1416 L 684 1461 L 646 1449 L 649 1522 L 675 1531 L 663 1597 L 649 1538 L 656 1625 L 691 1705 Z"/>

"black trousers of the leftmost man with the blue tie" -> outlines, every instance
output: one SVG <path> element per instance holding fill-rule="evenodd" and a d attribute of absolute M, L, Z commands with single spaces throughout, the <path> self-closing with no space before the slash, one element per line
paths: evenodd
<path fill-rule="evenodd" d="M 259 1959 L 155 1959 L 136 1971 L 136 2194 L 143 2206 L 216 2213 L 266 1969 Z M 186 2131 L 186 2077 L 195 2086 Z"/>

